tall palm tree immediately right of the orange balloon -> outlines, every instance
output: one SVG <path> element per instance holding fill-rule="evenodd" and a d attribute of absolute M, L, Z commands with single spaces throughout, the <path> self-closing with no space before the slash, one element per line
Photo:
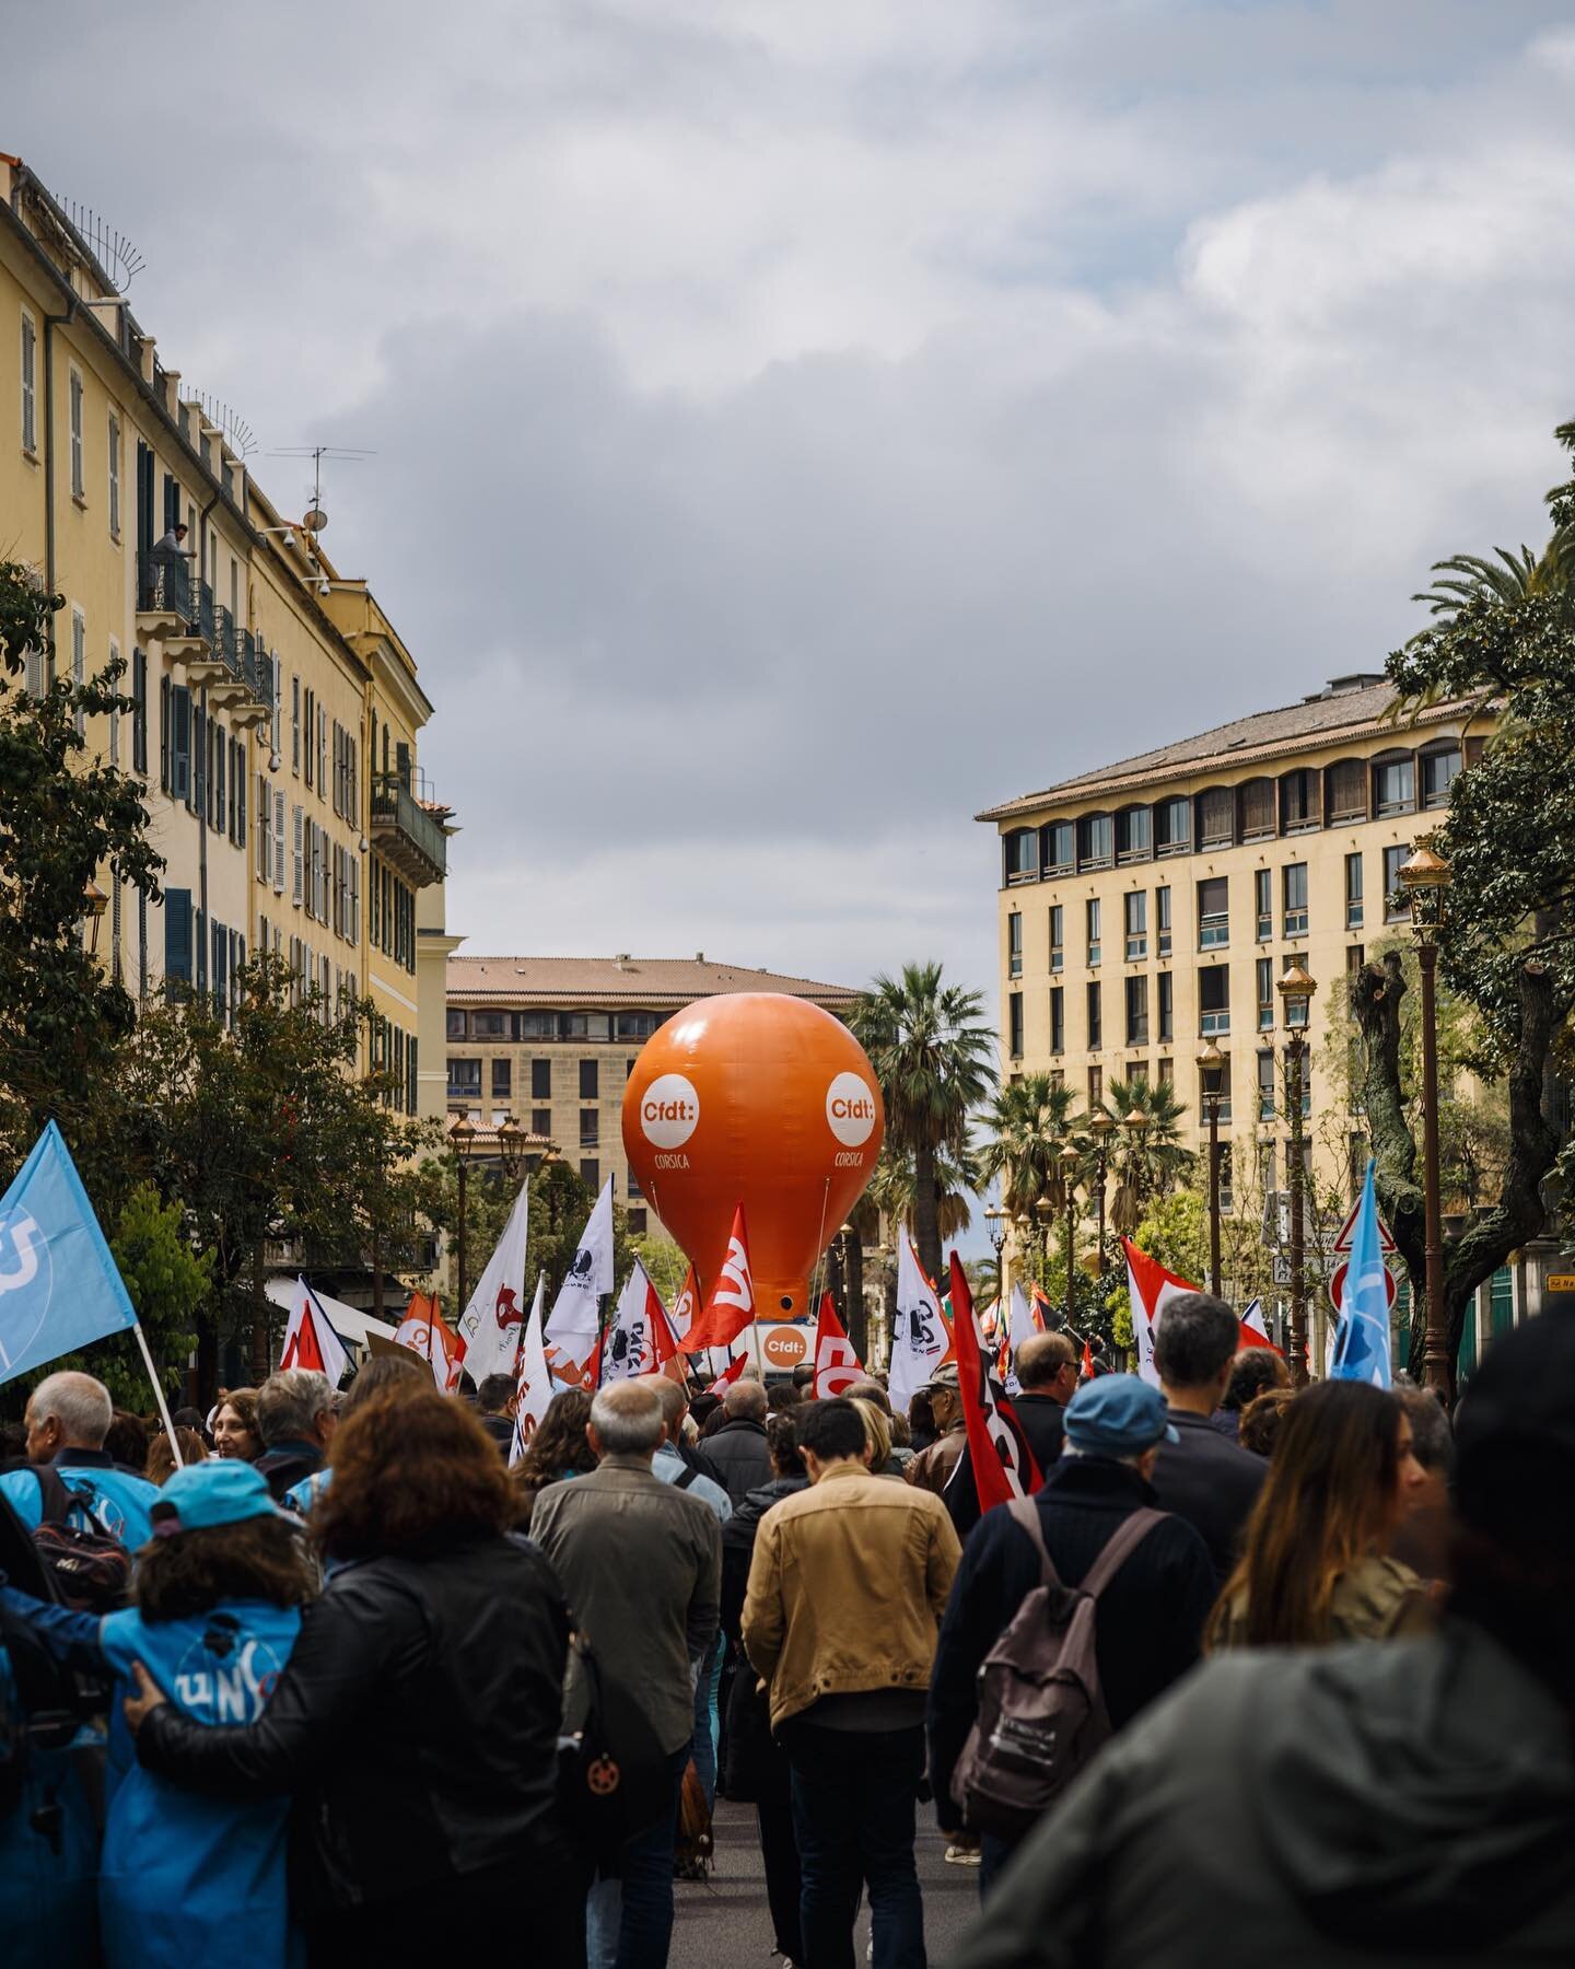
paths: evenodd
<path fill-rule="evenodd" d="M 965 1156 L 969 1116 L 994 1081 L 996 1036 L 982 1024 L 984 998 L 941 981 L 941 965 L 884 971 L 852 1008 L 849 1024 L 870 1055 L 886 1101 L 886 1140 L 914 1164 L 914 1231 L 919 1264 L 941 1274 L 941 1150 Z"/>

